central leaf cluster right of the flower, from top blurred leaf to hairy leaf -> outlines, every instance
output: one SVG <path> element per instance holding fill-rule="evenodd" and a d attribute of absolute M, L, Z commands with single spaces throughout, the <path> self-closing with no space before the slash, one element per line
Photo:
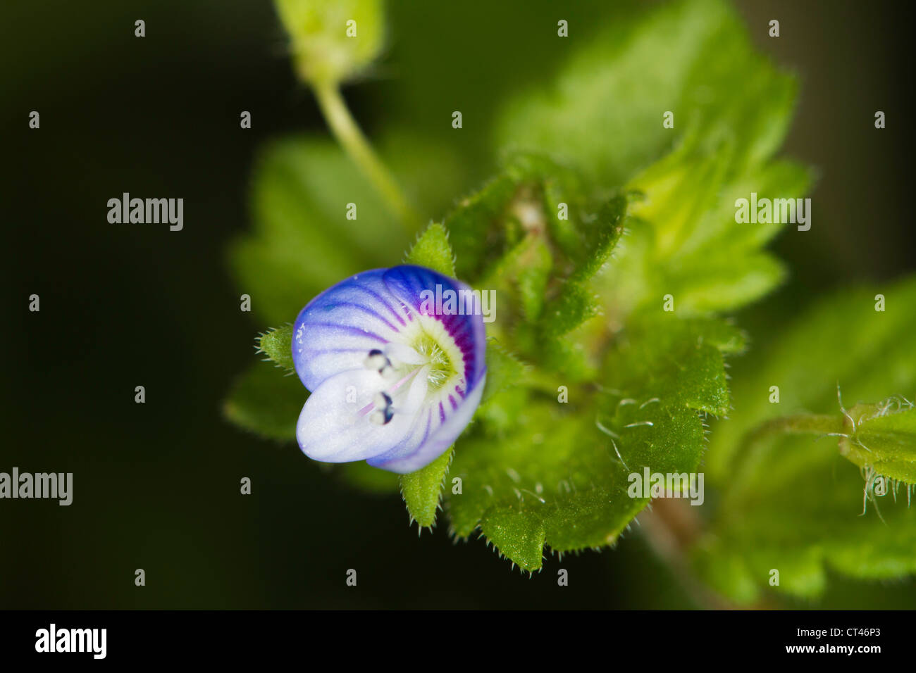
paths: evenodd
<path fill-rule="evenodd" d="M 739 82 L 753 92 L 740 104 Z M 545 543 L 567 551 L 616 540 L 646 504 L 626 494 L 631 470 L 695 471 L 700 414 L 728 412 L 724 356 L 745 346 L 709 313 L 782 277 L 761 251 L 780 227 L 736 224 L 736 195 L 802 194 L 809 181 L 769 161 L 793 94 L 730 10 L 695 2 L 612 27 L 550 93 L 507 108 L 500 132 L 516 151 L 445 224 L 459 272 L 501 290 L 489 331 L 534 366 L 535 384 L 499 423 L 484 409 L 457 442 L 451 474 L 464 491 L 446 501 L 456 535 L 479 527 L 521 568 L 538 569 Z M 669 106 L 676 132 L 661 124 Z M 595 142 L 599 128 L 611 150 Z M 615 184 L 625 188 L 608 190 Z M 543 303 L 529 288 L 543 288 Z M 674 313 L 661 310 L 666 294 Z M 556 401 L 560 385 L 568 406 Z"/>

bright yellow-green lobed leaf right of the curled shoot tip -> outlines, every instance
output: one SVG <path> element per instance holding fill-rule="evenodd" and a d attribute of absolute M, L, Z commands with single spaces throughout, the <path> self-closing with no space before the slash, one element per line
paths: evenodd
<path fill-rule="evenodd" d="M 630 183 L 643 194 L 630 207 L 630 236 L 619 264 L 597 283 L 616 315 L 670 294 L 679 311 L 736 309 L 759 299 L 785 277 L 760 248 L 787 224 L 736 223 L 735 201 L 761 195 L 802 197 L 809 171 L 775 162 L 733 174 L 733 147 L 698 153 L 684 147 Z M 794 227 L 793 227 L 794 228 Z"/>

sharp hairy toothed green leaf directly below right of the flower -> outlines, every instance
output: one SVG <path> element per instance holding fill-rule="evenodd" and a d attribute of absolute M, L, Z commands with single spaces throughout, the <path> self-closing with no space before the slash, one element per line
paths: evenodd
<path fill-rule="evenodd" d="M 616 541 L 647 504 L 627 494 L 630 472 L 696 470 L 698 412 L 728 407 L 723 353 L 740 350 L 743 338 L 717 320 L 671 317 L 661 326 L 646 318 L 632 327 L 630 343 L 639 346 L 621 341 L 604 393 L 545 380 L 508 428 L 484 415 L 465 432 L 450 472 L 462 493 L 446 494 L 454 535 L 480 529 L 500 554 L 537 570 L 545 544 L 562 552 Z M 554 383 L 570 384 L 568 401 Z"/>

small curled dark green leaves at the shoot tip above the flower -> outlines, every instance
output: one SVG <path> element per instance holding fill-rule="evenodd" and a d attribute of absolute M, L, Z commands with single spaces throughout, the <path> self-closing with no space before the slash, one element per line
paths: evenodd
<path fill-rule="evenodd" d="M 515 154 L 445 220 L 459 275 L 499 298 L 488 333 L 531 364 L 577 380 L 594 364 L 570 332 L 600 313 L 585 284 L 612 254 L 628 202 L 583 185 L 549 158 Z"/>

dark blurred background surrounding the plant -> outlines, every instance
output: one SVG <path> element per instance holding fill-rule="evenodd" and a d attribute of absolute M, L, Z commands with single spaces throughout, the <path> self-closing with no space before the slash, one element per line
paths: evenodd
<path fill-rule="evenodd" d="M 562 16 L 551 5 L 391 3 L 386 56 L 346 91 L 354 115 L 370 136 L 398 124 L 455 145 L 442 123 L 455 101 L 485 127 L 508 94 L 562 63 L 560 42 L 538 36 L 563 17 L 587 37 L 609 4 Z M 812 231 L 775 245 L 791 282 L 739 317 L 762 331 L 826 288 L 914 268 L 911 24 L 894 3 L 738 7 L 759 48 L 801 74 L 784 154 L 821 171 Z M 137 18 L 146 38 L 134 37 Z M 74 473 L 70 507 L 0 501 L 0 608 L 691 604 L 636 533 L 615 550 L 548 559 L 529 579 L 482 540 L 453 545 L 444 526 L 418 538 L 397 495 L 352 491 L 295 445 L 224 421 L 224 395 L 264 327 L 239 311 L 224 255 L 250 226 L 253 158 L 268 138 L 324 129 L 270 3 L 6 0 L 0 72 L 0 471 Z M 239 128 L 242 110 L 251 130 Z M 455 195 L 493 168 L 485 137 L 463 139 L 455 151 L 474 168 Z M 107 223 L 106 201 L 124 191 L 183 197 L 184 231 Z M 250 496 L 239 494 L 244 476 Z M 356 588 L 344 583 L 350 568 Z M 832 587 L 823 602 L 793 604 L 906 606 L 914 595 L 911 582 Z"/>

